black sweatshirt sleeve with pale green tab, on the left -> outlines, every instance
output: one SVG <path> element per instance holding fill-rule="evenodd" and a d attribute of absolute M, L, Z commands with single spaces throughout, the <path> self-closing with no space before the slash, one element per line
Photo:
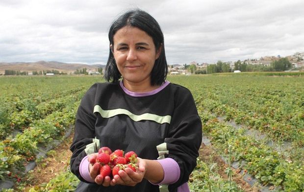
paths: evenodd
<path fill-rule="evenodd" d="M 79 180 L 88 183 L 80 174 L 81 160 L 99 149 L 99 140 L 95 139 L 96 117 L 93 113 L 94 99 L 97 84 L 93 85 L 83 96 L 76 113 L 74 139 L 70 150 L 72 151 L 71 171 Z"/>

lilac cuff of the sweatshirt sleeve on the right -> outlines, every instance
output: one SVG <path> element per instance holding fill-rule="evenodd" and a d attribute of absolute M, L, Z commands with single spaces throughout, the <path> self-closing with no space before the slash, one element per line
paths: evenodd
<path fill-rule="evenodd" d="M 159 183 L 152 183 L 153 185 L 172 184 L 177 182 L 180 175 L 180 170 L 177 162 L 172 158 L 165 158 L 156 160 L 161 164 L 164 170 L 164 179 Z"/>

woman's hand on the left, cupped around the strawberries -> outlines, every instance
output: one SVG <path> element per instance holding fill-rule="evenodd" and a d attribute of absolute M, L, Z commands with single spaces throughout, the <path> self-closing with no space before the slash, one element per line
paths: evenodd
<path fill-rule="evenodd" d="M 90 166 L 89 166 L 90 177 L 95 181 L 95 183 L 102 185 L 104 187 L 108 187 L 110 186 L 111 178 L 109 176 L 105 176 L 103 178 L 100 174 L 101 165 L 99 163 L 92 163 L 92 162 L 96 162 L 97 155 L 98 153 L 93 153 L 90 154 L 88 157 L 88 161 L 90 162 Z"/>

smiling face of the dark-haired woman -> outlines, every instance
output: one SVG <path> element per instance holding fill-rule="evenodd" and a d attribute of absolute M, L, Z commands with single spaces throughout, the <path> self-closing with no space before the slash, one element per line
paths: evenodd
<path fill-rule="evenodd" d="M 156 52 L 152 37 L 137 27 L 125 26 L 115 33 L 113 42 L 110 46 L 124 84 L 151 85 L 151 71 L 161 49 Z"/>

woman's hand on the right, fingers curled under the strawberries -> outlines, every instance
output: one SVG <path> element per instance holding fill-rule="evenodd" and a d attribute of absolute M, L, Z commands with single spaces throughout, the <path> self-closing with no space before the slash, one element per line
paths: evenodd
<path fill-rule="evenodd" d="M 137 157 L 138 159 L 138 169 L 136 172 L 131 170 L 130 168 L 126 168 L 124 170 L 118 171 L 119 175 L 115 175 L 111 180 L 110 185 L 127 185 L 127 186 L 135 186 L 137 183 L 140 183 L 146 173 L 147 163 L 144 159 Z"/>

